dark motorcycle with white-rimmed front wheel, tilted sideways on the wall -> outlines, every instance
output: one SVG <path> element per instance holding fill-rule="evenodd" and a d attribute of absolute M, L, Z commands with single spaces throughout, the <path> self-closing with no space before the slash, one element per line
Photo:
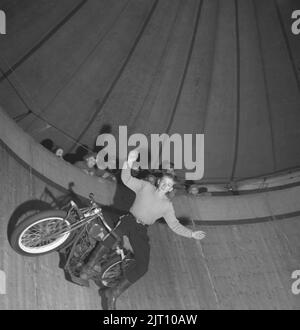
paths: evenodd
<path fill-rule="evenodd" d="M 35 212 L 18 223 L 9 237 L 11 247 L 24 256 L 58 251 L 66 279 L 82 286 L 93 280 L 99 287 L 114 287 L 134 262 L 126 236 L 105 218 L 102 208 L 89 195 L 89 205 L 79 207 L 70 200 L 62 209 Z M 82 278 L 83 267 L 93 259 L 91 273 Z"/>

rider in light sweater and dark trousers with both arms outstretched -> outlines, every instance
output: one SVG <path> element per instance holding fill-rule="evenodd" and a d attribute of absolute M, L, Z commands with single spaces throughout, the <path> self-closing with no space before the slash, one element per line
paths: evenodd
<path fill-rule="evenodd" d="M 178 235 L 194 239 L 205 237 L 203 231 L 192 231 L 177 220 L 172 202 L 168 198 L 168 193 L 173 190 L 174 185 L 171 174 L 165 174 L 160 178 L 157 186 L 131 176 L 130 171 L 137 158 L 138 152 L 133 150 L 123 165 L 122 181 L 135 192 L 136 198 L 130 213 L 122 217 L 118 227 L 129 238 L 135 262 L 126 269 L 124 279 L 116 287 L 100 292 L 103 309 L 116 309 L 116 301 L 120 294 L 147 272 L 150 258 L 147 227 L 157 219 L 164 217 L 168 226 Z"/>

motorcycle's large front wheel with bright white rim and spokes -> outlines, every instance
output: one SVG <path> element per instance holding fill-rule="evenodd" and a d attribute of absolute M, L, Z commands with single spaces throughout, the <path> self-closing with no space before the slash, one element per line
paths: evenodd
<path fill-rule="evenodd" d="M 60 210 L 40 212 L 15 227 L 10 244 L 19 254 L 37 256 L 62 248 L 71 239 L 67 213 Z"/>

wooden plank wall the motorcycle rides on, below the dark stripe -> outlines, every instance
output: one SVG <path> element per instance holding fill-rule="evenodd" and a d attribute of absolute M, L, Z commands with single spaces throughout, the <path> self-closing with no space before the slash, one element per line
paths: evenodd
<path fill-rule="evenodd" d="M 0 309 L 101 309 L 97 287 L 67 282 L 58 255 L 28 258 L 7 241 L 7 224 L 45 183 L 0 148 Z M 55 191 L 53 188 L 51 188 Z M 209 226 L 204 241 L 177 236 L 164 224 L 149 229 L 149 272 L 118 301 L 120 309 L 300 309 L 291 274 L 300 269 L 300 219 Z"/>

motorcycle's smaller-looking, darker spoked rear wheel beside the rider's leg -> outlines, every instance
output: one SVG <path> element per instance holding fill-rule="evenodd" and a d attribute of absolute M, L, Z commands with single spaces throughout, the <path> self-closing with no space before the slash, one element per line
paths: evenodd
<path fill-rule="evenodd" d="M 102 285 L 112 288 L 117 285 L 123 277 L 124 270 L 134 262 L 133 258 L 125 258 L 121 260 L 120 256 L 116 256 L 107 263 L 101 273 L 100 281 Z"/>

